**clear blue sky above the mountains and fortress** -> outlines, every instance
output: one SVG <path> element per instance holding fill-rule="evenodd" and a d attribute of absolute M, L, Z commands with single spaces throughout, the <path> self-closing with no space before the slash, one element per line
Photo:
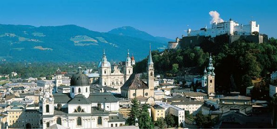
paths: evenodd
<path fill-rule="evenodd" d="M 188 28 L 210 27 L 209 12 L 216 10 L 223 20 L 256 20 L 260 33 L 277 38 L 276 5 L 277 0 L 1 0 L 0 23 L 76 24 L 100 32 L 132 26 L 174 39 Z"/>

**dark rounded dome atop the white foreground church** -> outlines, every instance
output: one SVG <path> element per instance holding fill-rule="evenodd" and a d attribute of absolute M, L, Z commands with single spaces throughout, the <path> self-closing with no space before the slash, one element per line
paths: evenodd
<path fill-rule="evenodd" d="M 81 72 L 81 67 L 78 67 L 78 73 L 73 74 L 70 80 L 72 86 L 87 86 L 89 85 L 88 77 Z"/>

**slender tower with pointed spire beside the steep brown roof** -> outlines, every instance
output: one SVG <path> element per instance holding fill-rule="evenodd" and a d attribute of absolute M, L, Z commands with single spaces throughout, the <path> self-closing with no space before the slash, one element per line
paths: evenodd
<path fill-rule="evenodd" d="M 149 55 L 148 55 L 147 73 L 148 73 L 147 84 L 148 84 L 148 88 L 150 89 L 149 95 L 154 97 L 154 63 L 151 55 L 151 46 L 150 46 Z"/>

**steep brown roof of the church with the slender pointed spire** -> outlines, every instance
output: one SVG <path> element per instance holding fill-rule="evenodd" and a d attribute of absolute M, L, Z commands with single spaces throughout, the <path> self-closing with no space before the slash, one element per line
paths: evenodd
<path fill-rule="evenodd" d="M 129 79 L 124 83 L 121 89 L 147 89 L 148 85 L 143 82 L 139 74 L 133 73 Z"/>

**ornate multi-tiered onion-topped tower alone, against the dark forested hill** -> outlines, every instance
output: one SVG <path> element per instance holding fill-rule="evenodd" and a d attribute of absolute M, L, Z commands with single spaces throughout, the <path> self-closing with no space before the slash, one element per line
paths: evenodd
<path fill-rule="evenodd" d="M 208 74 L 207 74 L 207 86 L 208 90 L 207 93 L 209 95 L 209 98 L 215 96 L 215 68 L 213 66 L 213 58 L 212 54 L 210 54 L 210 59 L 209 59 L 209 66 L 208 66 Z"/>

